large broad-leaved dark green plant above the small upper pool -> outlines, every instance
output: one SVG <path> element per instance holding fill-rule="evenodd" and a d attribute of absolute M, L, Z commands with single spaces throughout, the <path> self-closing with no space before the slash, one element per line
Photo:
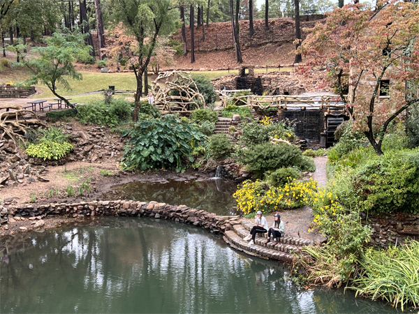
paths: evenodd
<path fill-rule="evenodd" d="M 182 171 L 192 163 L 193 147 L 205 139 L 196 126 L 182 124 L 172 115 L 165 119 L 139 121 L 127 132 L 124 149 L 124 170 L 172 169 Z"/>

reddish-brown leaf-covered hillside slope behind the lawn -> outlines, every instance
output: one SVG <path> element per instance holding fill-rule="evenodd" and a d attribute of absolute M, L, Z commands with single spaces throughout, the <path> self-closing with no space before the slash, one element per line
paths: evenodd
<path fill-rule="evenodd" d="M 316 22 L 324 20 L 302 22 L 301 28 L 314 27 Z M 270 19 L 270 29 L 265 31 L 265 20 L 254 21 L 255 33 L 249 36 L 249 21 L 240 21 L 240 45 L 242 47 L 245 64 L 255 66 L 281 66 L 289 65 L 294 61 L 295 22 L 289 17 Z M 176 58 L 176 68 L 235 68 L 235 52 L 230 22 L 210 23 L 205 27 L 205 40 L 202 29 L 194 31 L 195 63 L 191 63 L 190 54 L 186 57 Z M 307 32 L 302 31 L 302 38 Z M 179 31 L 172 38 L 182 42 Z M 191 29 L 186 27 L 186 47 L 191 49 Z"/>

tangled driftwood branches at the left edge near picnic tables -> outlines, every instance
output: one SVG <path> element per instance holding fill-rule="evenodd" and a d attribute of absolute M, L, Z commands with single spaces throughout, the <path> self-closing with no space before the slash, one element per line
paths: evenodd
<path fill-rule="evenodd" d="M 7 135 L 17 144 L 17 140 L 24 140 L 29 126 L 43 125 L 35 112 L 22 109 L 19 105 L 1 105 L 0 109 L 13 109 L 0 114 L 0 140 Z"/>

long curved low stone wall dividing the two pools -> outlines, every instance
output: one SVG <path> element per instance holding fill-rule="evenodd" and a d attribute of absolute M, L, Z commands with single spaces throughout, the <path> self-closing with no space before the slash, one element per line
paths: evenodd
<path fill-rule="evenodd" d="M 93 216 L 138 216 L 175 220 L 204 227 L 214 233 L 223 234 L 240 224 L 239 216 L 217 216 L 207 211 L 191 209 L 184 205 L 172 206 L 158 202 L 134 202 L 127 200 L 79 202 L 73 204 L 45 204 L 9 207 L 8 216 L 37 217 L 67 215 L 69 217 Z"/>

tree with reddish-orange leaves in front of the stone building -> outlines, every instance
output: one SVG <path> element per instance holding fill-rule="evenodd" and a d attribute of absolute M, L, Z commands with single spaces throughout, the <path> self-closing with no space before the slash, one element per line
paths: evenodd
<path fill-rule="evenodd" d="M 302 42 L 305 70 L 328 68 L 346 110 L 381 155 L 390 122 L 419 103 L 419 8 L 392 0 L 335 8 Z M 348 96 L 344 76 L 349 76 Z"/>

